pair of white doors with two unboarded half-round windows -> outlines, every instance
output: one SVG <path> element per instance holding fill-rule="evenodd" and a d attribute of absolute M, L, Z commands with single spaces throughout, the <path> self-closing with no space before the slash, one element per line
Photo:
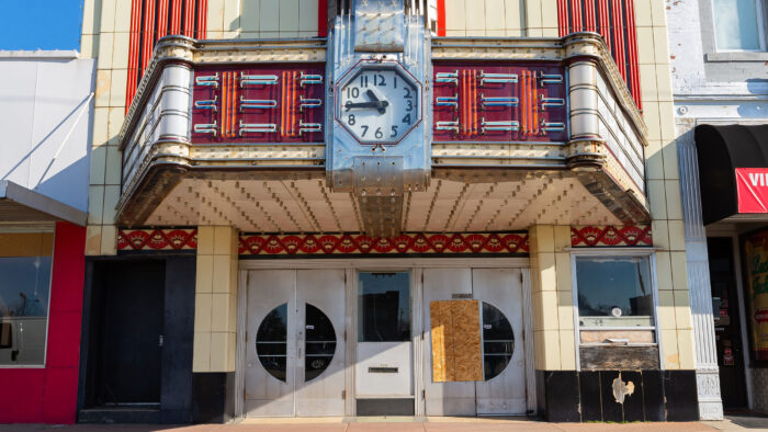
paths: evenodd
<path fill-rule="evenodd" d="M 246 414 L 343 416 L 343 270 L 250 271 Z"/>

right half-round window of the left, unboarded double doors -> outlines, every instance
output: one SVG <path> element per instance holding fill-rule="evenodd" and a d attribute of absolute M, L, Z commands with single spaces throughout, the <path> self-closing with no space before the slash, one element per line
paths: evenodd
<path fill-rule="evenodd" d="M 323 374 L 336 353 L 336 331 L 328 316 L 307 303 L 306 305 L 306 359 L 304 360 L 304 382 Z"/>

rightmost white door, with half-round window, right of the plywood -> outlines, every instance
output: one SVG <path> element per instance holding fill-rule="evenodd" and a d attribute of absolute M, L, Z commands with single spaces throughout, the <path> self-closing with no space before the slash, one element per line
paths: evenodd
<path fill-rule="evenodd" d="M 526 355 L 522 340 L 522 281 L 520 269 L 473 269 L 474 297 L 504 314 L 515 336 L 512 356 L 495 377 L 475 383 L 478 414 L 526 413 Z M 486 306 L 481 304 L 482 310 Z M 487 317 L 481 317 L 484 330 Z M 529 336 L 531 337 L 531 336 Z M 488 341 L 484 340 L 484 346 Z M 488 350 L 484 350 L 487 367 Z M 487 372 L 487 371 L 486 371 Z"/>

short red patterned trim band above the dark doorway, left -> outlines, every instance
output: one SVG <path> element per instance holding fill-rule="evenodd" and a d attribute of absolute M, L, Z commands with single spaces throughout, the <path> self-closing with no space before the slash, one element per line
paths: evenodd
<path fill-rule="evenodd" d="M 197 230 L 192 229 L 121 229 L 117 250 L 195 250 Z"/>

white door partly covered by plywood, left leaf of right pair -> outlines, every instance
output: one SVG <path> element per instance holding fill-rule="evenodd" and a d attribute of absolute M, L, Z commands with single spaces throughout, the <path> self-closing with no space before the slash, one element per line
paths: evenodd
<path fill-rule="evenodd" d="M 423 270 L 423 379 L 427 416 L 475 416 L 475 383 L 434 383 L 432 380 L 432 333 L 430 303 L 450 300 L 453 294 L 472 297 L 472 270 Z"/>

